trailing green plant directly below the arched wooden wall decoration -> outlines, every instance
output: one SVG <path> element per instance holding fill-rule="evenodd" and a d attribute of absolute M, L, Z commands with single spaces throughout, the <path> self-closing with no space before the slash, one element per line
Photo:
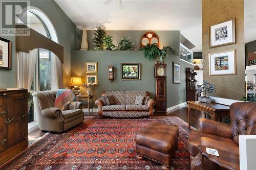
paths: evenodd
<path fill-rule="evenodd" d="M 150 61 L 161 55 L 161 50 L 159 49 L 157 43 L 148 43 L 146 46 L 140 48 L 140 50 L 144 50 L 144 57 Z"/>

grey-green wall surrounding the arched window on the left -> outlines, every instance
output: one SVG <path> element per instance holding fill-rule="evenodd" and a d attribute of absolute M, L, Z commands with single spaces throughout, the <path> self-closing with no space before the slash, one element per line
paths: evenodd
<path fill-rule="evenodd" d="M 30 5 L 44 12 L 57 32 L 59 44 L 64 47 L 62 64 L 63 87 L 69 87 L 71 72 L 71 51 L 78 50 L 81 44 L 81 33 L 70 18 L 53 1 L 30 1 Z M 12 41 L 12 70 L 0 69 L 0 89 L 17 87 L 17 59 L 15 52 L 15 36 L 3 36 Z"/>

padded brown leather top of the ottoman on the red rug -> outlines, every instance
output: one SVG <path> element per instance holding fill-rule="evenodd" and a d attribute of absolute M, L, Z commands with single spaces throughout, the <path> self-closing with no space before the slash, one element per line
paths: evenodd
<path fill-rule="evenodd" d="M 178 137 L 177 127 L 154 123 L 141 130 L 135 136 L 135 142 L 145 148 L 170 154 L 177 147 Z"/>

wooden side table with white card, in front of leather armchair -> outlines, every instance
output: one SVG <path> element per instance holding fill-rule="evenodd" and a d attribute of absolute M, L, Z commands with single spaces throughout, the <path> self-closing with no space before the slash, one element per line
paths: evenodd
<path fill-rule="evenodd" d="M 207 148 L 212 148 L 212 147 L 207 147 Z M 210 161 L 217 163 L 221 167 L 225 167 L 227 169 L 231 170 L 239 170 L 239 151 L 238 153 L 232 153 L 228 151 L 222 151 L 222 150 L 217 150 L 220 156 L 215 156 L 215 155 L 210 155 L 207 154 L 206 152 L 206 147 L 203 145 L 199 145 L 198 149 L 202 153 L 202 157 L 208 158 Z M 212 148 L 215 149 L 215 148 Z M 202 160 L 204 162 L 204 160 Z M 203 165 L 204 166 L 204 165 Z"/>

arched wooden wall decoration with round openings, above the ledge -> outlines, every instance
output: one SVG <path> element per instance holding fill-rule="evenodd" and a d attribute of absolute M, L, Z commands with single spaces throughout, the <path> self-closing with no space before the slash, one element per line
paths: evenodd
<path fill-rule="evenodd" d="M 140 47 L 144 47 L 147 44 L 156 43 L 159 46 L 159 37 L 155 32 L 149 31 L 142 35 L 140 38 Z"/>

